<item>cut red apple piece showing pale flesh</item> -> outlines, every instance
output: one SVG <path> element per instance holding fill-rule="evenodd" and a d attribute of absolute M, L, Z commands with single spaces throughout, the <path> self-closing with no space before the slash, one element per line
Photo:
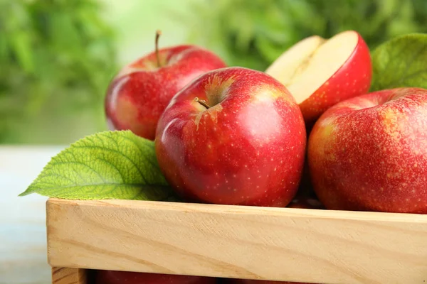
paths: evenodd
<path fill-rule="evenodd" d="M 371 56 L 356 31 L 329 40 L 313 35 L 285 51 L 265 72 L 288 87 L 310 127 L 337 102 L 368 92 Z"/>

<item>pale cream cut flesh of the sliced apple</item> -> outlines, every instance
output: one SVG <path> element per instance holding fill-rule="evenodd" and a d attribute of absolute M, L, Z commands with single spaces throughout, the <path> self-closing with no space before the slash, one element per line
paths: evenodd
<path fill-rule="evenodd" d="M 313 35 L 286 50 L 265 72 L 284 84 L 300 104 L 344 65 L 358 42 L 354 31 L 344 31 L 330 40 Z"/>

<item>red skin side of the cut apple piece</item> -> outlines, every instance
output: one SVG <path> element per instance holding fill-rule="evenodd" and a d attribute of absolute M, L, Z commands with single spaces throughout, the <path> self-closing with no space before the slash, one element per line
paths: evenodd
<path fill-rule="evenodd" d="M 366 94 L 371 86 L 372 67 L 369 48 L 362 36 L 349 59 L 319 87 L 310 97 L 300 103 L 307 128 L 338 102 Z"/>

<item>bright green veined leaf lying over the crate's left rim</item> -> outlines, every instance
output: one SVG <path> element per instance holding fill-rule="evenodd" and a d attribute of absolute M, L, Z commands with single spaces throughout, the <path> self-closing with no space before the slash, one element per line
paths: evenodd
<path fill-rule="evenodd" d="M 154 142 L 131 131 L 105 131 L 73 143 L 46 165 L 20 196 L 79 200 L 173 200 Z"/>

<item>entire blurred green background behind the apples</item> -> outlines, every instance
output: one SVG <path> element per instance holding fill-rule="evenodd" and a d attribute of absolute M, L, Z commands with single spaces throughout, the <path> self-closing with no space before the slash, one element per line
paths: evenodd
<path fill-rule="evenodd" d="M 265 70 L 307 36 L 354 29 L 371 50 L 427 31 L 426 0 L 0 0 L 0 144 L 63 144 L 106 129 L 122 65 L 194 43 Z"/>

